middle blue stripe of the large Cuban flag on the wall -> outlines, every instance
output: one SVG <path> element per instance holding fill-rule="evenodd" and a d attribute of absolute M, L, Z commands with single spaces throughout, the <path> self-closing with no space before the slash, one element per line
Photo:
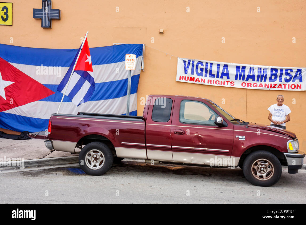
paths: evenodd
<path fill-rule="evenodd" d="M 139 77 L 140 74 L 131 77 L 131 94 L 137 93 Z M 40 101 L 61 102 L 63 94 L 56 90 L 58 84 L 43 84 L 43 85 L 49 88 L 50 90 L 54 91 L 55 94 L 50 95 L 47 98 L 41 99 Z M 90 101 L 114 99 L 126 96 L 127 86 L 128 86 L 127 78 L 118 81 L 96 83 L 95 92 L 92 94 Z M 71 102 L 71 100 L 67 96 L 65 96 L 63 102 Z"/>

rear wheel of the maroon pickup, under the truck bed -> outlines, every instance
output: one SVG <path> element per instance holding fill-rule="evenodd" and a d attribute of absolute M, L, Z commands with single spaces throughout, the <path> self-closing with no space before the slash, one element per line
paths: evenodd
<path fill-rule="evenodd" d="M 99 176 L 109 171 L 113 160 L 112 151 L 102 142 L 86 144 L 79 155 L 79 164 L 82 170 L 94 176 Z"/>

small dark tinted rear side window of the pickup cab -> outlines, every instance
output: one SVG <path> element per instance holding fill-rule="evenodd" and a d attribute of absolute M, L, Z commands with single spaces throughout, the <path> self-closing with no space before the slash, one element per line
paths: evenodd
<path fill-rule="evenodd" d="M 152 110 L 152 120 L 155 122 L 168 122 L 170 120 L 171 108 L 172 99 L 155 99 Z"/>

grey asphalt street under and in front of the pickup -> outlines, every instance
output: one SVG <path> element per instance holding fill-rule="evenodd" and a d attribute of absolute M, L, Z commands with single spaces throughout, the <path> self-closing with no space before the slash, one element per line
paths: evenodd
<path fill-rule="evenodd" d="M 89 176 L 79 167 L 0 173 L 0 203 L 305 204 L 305 176 L 303 170 L 283 170 L 274 186 L 258 187 L 239 168 L 124 160 L 102 176 Z"/>

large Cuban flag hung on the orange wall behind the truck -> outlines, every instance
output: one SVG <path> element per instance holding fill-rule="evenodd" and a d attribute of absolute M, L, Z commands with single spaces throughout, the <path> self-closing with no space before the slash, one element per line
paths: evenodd
<path fill-rule="evenodd" d="M 126 114 L 129 73 L 125 70 L 125 54 L 136 54 L 129 114 L 137 115 L 142 49 L 142 44 L 90 48 L 95 91 L 78 107 L 65 96 L 60 113 Z M 0 44 L 0 127 L 20 132 L 47 129 L 63 96 L 58 85 L 77 51 Z"/>

